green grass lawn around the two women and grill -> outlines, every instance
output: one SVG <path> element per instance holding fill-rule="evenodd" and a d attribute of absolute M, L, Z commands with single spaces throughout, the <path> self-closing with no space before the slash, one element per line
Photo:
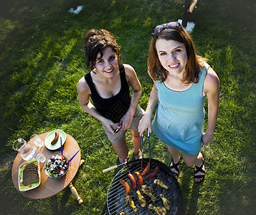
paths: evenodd
<path fill-rule="evenodd" d="M 80 3 L 84 9 L 70 14 L 71 0 L 0 2 L 0 214 L 101 213 L 116 173 L 102 171 L 118 157 L 101 123 L 84 113 L 77 100 L 77 81 L 88 72 L 81 51 L 84 34 L 108 29 L 118 37 L 123 62 L 135 68 L 141 81 L 140 105 L 146 109 L 152 87 L 146 72 L 151 28 L 182 19 L 184 1 Z M 219 76 L 221 95 L 214 141 L 202 151 L 204 183 L 195 184 L 194 168 L 181 161 L 182 214 L 255 214 L 255 11 L 252 0 L 200 0 L 189 18 L 196 24 L 191 33 L 196 49 Z M 72 181 L 81 205 L 69 188 L 49 199 L 32 200 L 19 194 L 11 181 L 13 141 L 57 128 L 77 140 L 85 160 Z M 130 133 L 127 140 L 131 160 Z M 166 165 L 171 161 L 155 135 L 151 158 Z"/>

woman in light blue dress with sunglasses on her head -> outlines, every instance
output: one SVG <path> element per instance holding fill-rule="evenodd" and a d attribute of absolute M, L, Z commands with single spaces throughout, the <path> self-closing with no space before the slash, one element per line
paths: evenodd
<path fill-rule="evenodd" d="M 146 113 L 138 126 L 166 143 L 171 171 L 179 176 L 180 154 L 187 166 L 195 165 L 194 181 L 204 181 L 201 148 L 214 139 L 219 110 L 219 78 L 196 54 L 194 42 L 179 22 L 154 27 L 148 55 L 148 75 L 153 88 Z M 208 125 L 204 133 L 204 101 L 208 99 Z M 151 115 L 158 103 L 155 118 Z"/>

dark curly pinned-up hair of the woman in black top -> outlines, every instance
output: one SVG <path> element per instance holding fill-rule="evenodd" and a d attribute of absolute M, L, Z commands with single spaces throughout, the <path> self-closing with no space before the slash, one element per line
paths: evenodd
<path fill-rule="evenodd" d="M 96 58 L 100 53 L 100 58 L 103 57 L 103 50 L 107 47 L 113 49 L 113 52 L 118 57 L 118 63 L 121 63 L 120 46 L 116 42 L 113 34 L 105 29 L 90 29 L 85 34 L 84 52 L 86 57 L 86 65 L 93 70 L 95 68 Z"/>

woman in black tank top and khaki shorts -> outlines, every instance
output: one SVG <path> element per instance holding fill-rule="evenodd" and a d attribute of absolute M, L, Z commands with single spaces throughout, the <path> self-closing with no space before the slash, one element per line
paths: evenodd
<path fill-rule="evenodd" d="M 140 158 L 138 123 L 144 111 L 138 105 L 141 84 L 136 72 L 131 65 L 121 63 L 120 47 L 113 34 L 104 29 L 91 29 L 85 34 L 84 52 L 90 72 L 77 83 L 80 106 L 101 121 L 120 163 L 127 162 L 127 129 L 133 138 L 133 156 Z"/>

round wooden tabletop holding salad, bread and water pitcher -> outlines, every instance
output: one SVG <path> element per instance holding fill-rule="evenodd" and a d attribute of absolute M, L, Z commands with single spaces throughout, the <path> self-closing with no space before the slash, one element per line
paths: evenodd
<path fill-rule="evenodd" d="M 39 135 L 39 137 L 44 140 L 49 132 L 47 133 L 42 133 Z M 75 153 L 80 149 L 79 145 L 77 144 L 77 141 L 72 138 L 71 135 L 68 135 L 66 133 L 66 141 L 65 144 L 63 145 L 63 151 L 65 151 L 70 157 L 75 155 Z M 28 142 L 31 145 L 34 145 L 32 141 L 29 140 Z M 42 148 L 38 147 L 35 145 L 46 158 L 48 158 L 52 153 L 55 151 L 49 151 L 45 146 Z M 57 151 L 60 151 L 57 150 Z M 44 199 L 48 198 L 49 196 L 54 196 L 55 194 L 59 193 L 62 191 L 67 185 L 69 185 L 72 181 L 72 179 L 75 177 L 75 174 L 77 173 L 77 170 L 80 166 L 80 160 L 81 160 L 81 153 L 77 153 L 75 158 L 71 161 L 71 166 L 69 171 L 65 176 L 62 176 L 61 178 L 49 178 L 48 176 L 45 175 L 44 173 L 44 163 L 40 162 L 40 171 L 41 171 L 41 183 L 37 188 L 34 188 L 29 191 L 19 191 L 19 184 L 18 184 L 18 175 L 19 175 L 19 166 L 22 165 L 22 163 L 25 163 L 27 161 L 24 161 L 22 159 L 22 156 L 18 155 L 14 159 L 14 164 L 11 169 L 11 178 L 14 183 L 15 188 L 19 193 L 21 193 L 23 196 L 27 196 L 32 199 Z"/>

